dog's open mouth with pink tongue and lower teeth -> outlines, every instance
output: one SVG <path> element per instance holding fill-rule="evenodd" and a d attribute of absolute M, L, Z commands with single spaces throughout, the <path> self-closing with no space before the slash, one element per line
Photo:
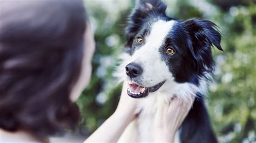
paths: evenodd
<path fill-rule="evenodd" d="M 137 83 L 130 82 L 129 88 L 127 89 L 127 94 L 132 98 L 142 98 L 149 95 L 150 92 L 157 91 L 165 81 L 160 82 L 153 87 L 143 87 Z"/>

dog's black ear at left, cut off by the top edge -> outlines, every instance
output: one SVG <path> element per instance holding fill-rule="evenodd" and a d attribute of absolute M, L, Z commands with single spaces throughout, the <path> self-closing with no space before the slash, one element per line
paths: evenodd
<path fill-rule="evenodd" d="M 125 30 L 125 47 L 131 48 L 135 35 L 147 23 L 149 17 L 165 16 L 166 7 L 166 4 L 161 0 L 137 0 L 134 10 L 129 16 L 129 25 Z"/>

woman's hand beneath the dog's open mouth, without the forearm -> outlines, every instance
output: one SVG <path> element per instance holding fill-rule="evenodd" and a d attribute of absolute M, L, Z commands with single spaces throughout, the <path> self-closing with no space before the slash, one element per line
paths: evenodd
<path fill-rule="evenodd" d="M 126 117 L 132 121 L 133 119 L 137 118 L 136 109 L 138 99 L 134 99 L 127 94 L 128 87 L 129 84 L 124 81 L 122 94 L 114 115 Z"/>

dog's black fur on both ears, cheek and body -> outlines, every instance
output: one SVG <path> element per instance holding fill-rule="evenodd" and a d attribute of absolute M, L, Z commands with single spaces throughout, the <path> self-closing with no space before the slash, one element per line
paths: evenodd
<path fill-rule="evenodd" d="M 146 23 L 161 19 L 165 21 L 177 20 L 166 16 L 166 5 L 160 0 L 137 1 L 126 28 L 126 47 L 133 51 L 134 38 Z M 190 82 L 199 85 L 201 78 L 207 78 L 205 74 L 212 73 L 214 62 L 211 46 L 214 45 L 221 51 L 221 35 L 217 26 L 208 20 L 188 19 L 177 20 L 173 26 L 174 34 L 169 35 L 173 46 L 179 47 L 179 57 L 165 57 L 166 65 L 178 83 Z M 180 58 L 182 56 L 182 58 Z M 167 60 L 166 60 L 167 59 Z M 177 66 L 183 65 L 183 66 Z M 198 92 L 191 111 L 181 125 L 181 142 L 217 142 L 208 113 L 204 104 L 204 96 Z"/>

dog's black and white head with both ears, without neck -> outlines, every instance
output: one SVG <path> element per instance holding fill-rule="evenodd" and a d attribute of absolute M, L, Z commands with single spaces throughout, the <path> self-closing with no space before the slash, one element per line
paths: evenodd
<path fill-rule="evenodd" d="M 213 71 L 211 46 L 221 35 L 208 20 L 185 21 L 167 17 L 160 0 L 137 1 L 126 28 L 131 59 L 125 67 L 133 98 L 149 95 L 165 83 L 190 82 Z M 172 84 L 170 84 L 172 85 Z"/>

